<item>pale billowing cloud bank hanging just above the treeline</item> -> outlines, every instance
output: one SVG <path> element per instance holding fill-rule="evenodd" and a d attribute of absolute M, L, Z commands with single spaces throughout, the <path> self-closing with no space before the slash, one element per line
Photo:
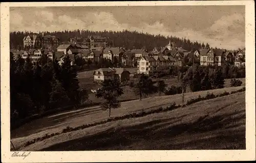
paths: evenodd
<path fill-rule="evenodd" d="M 119 23 L 110 12 L 87 12 L 73 17 L 69 14 L 56 15 L 52 12 L 35 11 L 34 17 L 27 20 L 17 13 L 11 14 L 11 30 L 19 31 L 60 31 L 60 30 L 91 30 L 91 31 L 138 31 L 155 35 L 172 35 L 188 38 L 190 41 L 208 42 L 212 47 L 237 49 L 245 46 L 245 17 L 242 14 L 232 14 L 220 17 L 212 22 L 205 30 L 196 31 L 191 28 L 179 29 L 174 32 L 160 21 L 150 24 L 140 22 L 138 24 Z M 27 21 L 26 21 L 27 20 Z M 36 21 L 38 20 L 38 21 Z M 26 22 L 25 22 L 26 21 Z M 27 26 L 25 26 L 27 25 Z"/>

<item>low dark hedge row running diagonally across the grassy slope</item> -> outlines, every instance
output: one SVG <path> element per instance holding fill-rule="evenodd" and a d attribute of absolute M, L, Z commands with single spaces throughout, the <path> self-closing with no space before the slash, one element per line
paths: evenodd
<path fill-rule="evenodd" d="M 219 94 L 219 95 L 214 95 L 212 93 L 211 94 L 208 93 L 205 97 L 199 96 L 196 99 L 191 99 L 191 100 L 187 101 L 186 105 L 193 104 L 193 103 L 203 101 L 203 100 L 214 99 L 214 98 L 217 98 L 217 97 L 223 97 L 223 96 L 227 96 L 227 95 L 234 94 L 236 92 L 242 92 L 242 91 L 245 91 L 245 87 L 243 87 L 242 89 L 236 90 L 236 91 L 231 91 L 231 93 L 225 91 L 225 92 L 223 92 L 222 94 Z M 166 108 L 159 107 L 158 109 L 150 110 L 148 112 L 145 112 L 144 110 L 142 110 L 138 113 L 133 112 L 131 114 L 126 114 L 126 115 L 123 115 L 123 116 L 120 116 L 120 117 L 113 117 L 113 118 L 109 118 L 109 119 L 104 120 L 104 121 L 100 121 L 100 122 L 96 122 L 96 123 L 92 123 L 92 124 L 86 124 L 86 125 L 78 126 L 78 127 L 75 127 L 75 128 L 68 126 L 67 128 L 64 128 L 61 132 L 46 134 L 45 136 L 34 138 L 32 141 L 28 141 L 25 144 L 25 147 L 29 146 L 31 144 L 34 144 L 36 142 L 39 142 L 39 141 L 44 141 L 47 138 L 53 137 L 55 135 L 59 135 L 61 133 L 67 133 L 67 132 L 71 132 L 71 131 L 82 130 L 84 128 L 88 128 L 88 127 L 92 127 L 92 126 L 96 126 L 96 125 L 101 125 L 101 124 L 105 124 L 105 123 L 113 122 L 113 121 L 118 121 L 118 120 L 144 117 L 144 116 L 149 115 L 149 114 L 154 114 L 154 113 L 159 113 L 159 112 L 164 112 L 164 111 L 170 111 L 170 110 L 174 110 L 174 109 L 179 108 L 179 107 L 181 107 L 181 105 L 176 105 L 176 103 L 172 103 L 170 106 L 167 106 Z"/>

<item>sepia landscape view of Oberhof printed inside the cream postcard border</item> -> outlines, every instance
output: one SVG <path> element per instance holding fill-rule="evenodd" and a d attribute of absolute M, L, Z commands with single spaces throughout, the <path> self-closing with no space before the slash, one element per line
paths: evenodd
<path fill-rule="evenodd" d="M 7 157 L 248 150 L 248 4 L 144 3 L 9 6 Z"/>

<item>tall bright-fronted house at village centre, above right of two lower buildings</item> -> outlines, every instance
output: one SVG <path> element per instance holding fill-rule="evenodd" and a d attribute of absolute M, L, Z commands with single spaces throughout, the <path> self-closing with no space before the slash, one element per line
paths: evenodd
<path fill-rule="evenodd" d="M 157 71 L 156 60 L 152 56 L 144 56 L 137 61 L 138 74 L 146 74 Z"/>

